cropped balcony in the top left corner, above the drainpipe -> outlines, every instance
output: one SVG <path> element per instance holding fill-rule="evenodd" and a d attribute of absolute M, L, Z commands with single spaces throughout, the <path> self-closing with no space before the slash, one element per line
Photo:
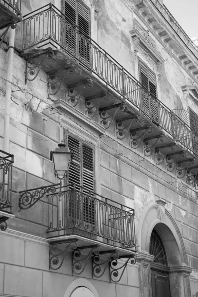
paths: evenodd
<path fill-rule="evenodd" d="M 21 20 L 21 0 L 0 0 L 0 29 Z"/>

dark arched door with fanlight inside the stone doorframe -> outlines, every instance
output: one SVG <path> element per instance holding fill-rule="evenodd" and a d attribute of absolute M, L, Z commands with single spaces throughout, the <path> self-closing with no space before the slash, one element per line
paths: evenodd
<path fill-rule="evenodd" d="M 150 254 L 154 260 L 150 265 L 153 297 L 170 297 L 169 266 L 163 242 L 155 229 L 150 237 Z"/>

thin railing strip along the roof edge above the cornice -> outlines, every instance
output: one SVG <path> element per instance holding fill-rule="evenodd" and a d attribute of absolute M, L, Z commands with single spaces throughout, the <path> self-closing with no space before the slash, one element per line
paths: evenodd
<path fill-rule="evenodd" d="M 151 0 L 151 2 L 159 9 L 163 17 L 171 24 L 171 26 L 174 28 L 176 33 L 182 33 L 184 36 L 184 42 L 185 44 L 196 54 L 198 57 L 198 50 L 197 46 L 193 43 L 193 41 L 190 39 L 190 37 L 186 34 L 184 29 L 180 26 L 180 24 L 176 21 L 174 16 L 170 13 L 168 8 L 163 4 L 161 4 L 158 0 Z"/>

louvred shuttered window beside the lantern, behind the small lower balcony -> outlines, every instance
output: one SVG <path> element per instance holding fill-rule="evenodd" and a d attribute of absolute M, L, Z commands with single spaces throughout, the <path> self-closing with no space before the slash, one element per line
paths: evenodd
<path fill-rule="evenodd" d="M 70 185 L 75 183 L 76 190 L 84 194 L 83 198 L 80 195 L 78 198 L 71 197 L 69 216 L 93 225 L 95 221 L 94 200 L 92 199 L 93 193 L 89 192 L 95 191 L 94 149 L 70 135 L 68 135 L 68 147 L 73 153 L 68 172 L 68 183 Z M 72 188 L 70 186 L 70 189 Z"/>

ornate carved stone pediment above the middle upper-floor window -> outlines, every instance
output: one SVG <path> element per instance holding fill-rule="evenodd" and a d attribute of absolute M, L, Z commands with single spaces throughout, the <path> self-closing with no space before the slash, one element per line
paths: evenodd
<path fill-rule="evenodd" d="M 148 43 L 148 38 L 146 39 L 144 34 L 142 34 L 137 28 L 131 30 L 130 34 L 134 43 L 135 52 L 138 51 L 138 47 L 141 47 L 149 54 L 149 56 L 156 62 L 156 64 L 164 63 L 164 59 L 156 50 L 156 47 L 153 46 L 153 43 Z"/>

